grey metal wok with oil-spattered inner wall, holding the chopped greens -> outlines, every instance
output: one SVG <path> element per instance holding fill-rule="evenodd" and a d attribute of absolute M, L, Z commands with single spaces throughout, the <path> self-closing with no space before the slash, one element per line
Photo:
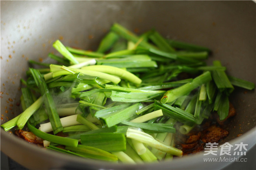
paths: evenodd
<path fill-rule="evenodd" d="M 206 46 L 213 51 L 209 64 L 219 59 L 229 75 L 256 83 L 255 10 L 253 1 L 1 1 L 1 124 L 21 113 L 20 78 L 28 59 L 52 62 L 47 55 L 57 39 L 95 50 L 114 22 Z M 243 142 L 249 150 L 256 143 L 255 90 L 235 87 L 230 101 L 237 115 L 225 125 L 229 136 L 222 143 Z M 231 163 L 203 162 L 221 157 L 203 152 L 172 162 L 99 162 L 39 148 L 3 129 L 1 151 L 29 169 L 220 169 Z"/>

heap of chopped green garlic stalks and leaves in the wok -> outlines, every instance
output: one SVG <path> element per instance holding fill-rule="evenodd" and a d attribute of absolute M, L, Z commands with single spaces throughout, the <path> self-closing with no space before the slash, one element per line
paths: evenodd
<path fill-rule="evenodd" d="M 215 111 L 225 119 L 234 86 L 254 89 L 227 75 L 220 61 L 206 65 L 210 49 L 155 29 L 137 36 L 113 24 L 96 51 L 59 40 L 53 47 L 63 56 L 49 54 L 58 65 L 29 61 L 44 68 L 26 72 L 24 111 L 1 126 L 26 125 L 46 148 L 71 155 L 125 163 L 182 156 L 174 147 L 177 130 L 186 134 Z"/>

